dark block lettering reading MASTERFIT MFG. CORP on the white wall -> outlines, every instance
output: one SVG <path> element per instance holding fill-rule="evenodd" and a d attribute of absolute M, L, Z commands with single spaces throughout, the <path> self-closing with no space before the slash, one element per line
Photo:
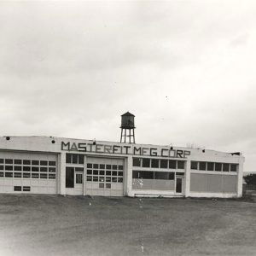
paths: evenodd
<path fill-rule="evenodd" d="M 93 152 L 105 154 L 135 154 L 161 157 L 187 158 L 190 155 L 188 150 L 171 149 L 171 148 L 146 148 L 136 145 L 104 145 L 95 143 L 64 143 L 61 142 L 61 150 Z"/>

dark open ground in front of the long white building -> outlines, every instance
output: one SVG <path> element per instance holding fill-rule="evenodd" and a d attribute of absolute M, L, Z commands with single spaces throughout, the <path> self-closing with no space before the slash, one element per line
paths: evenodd
<path fill-rule="evenodd" d="M 0 195 L 0 255 L 256 255 L 256 204 Z"/>

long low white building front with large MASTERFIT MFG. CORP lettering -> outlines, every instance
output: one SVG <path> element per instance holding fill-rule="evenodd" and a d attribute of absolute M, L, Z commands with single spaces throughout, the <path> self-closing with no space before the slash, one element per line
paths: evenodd
<path fill-rule="evenodd" d="M 0 193 L 241 197 L 244 157 L 62 137 L 0 137 Z"/>

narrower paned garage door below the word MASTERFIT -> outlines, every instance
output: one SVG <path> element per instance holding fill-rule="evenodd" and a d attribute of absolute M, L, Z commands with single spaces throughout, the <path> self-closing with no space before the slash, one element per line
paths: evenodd
<path fill-rule="evenodd" d="M 124 160 L 87 158 L 86 195 L 124 195 Z"/>

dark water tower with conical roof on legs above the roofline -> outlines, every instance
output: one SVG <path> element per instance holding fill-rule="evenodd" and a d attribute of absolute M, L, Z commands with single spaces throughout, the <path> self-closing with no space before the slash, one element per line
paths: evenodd
<path fill-rule="evenodd" d="M 122 123 L 121 123 L 121 138 L 120 143 L 135 143 L 135 137 L 134 137 L 134 117 L 132 113 L 126 112 L 121 115 L 122 117 Z M 131 132 L 132 131 L 132 132 Z"/>

